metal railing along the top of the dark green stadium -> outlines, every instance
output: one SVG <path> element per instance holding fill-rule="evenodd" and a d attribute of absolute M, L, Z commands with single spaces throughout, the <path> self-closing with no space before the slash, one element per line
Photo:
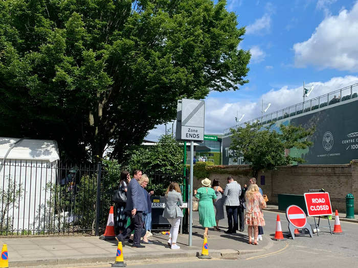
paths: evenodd
<path fill-rule="evenodd" d="M 278 121 L 287 117 L 296 116 L 302 113 L 307 113 L 316 109 L 320 109 L 336 103 L 348 101 L 358 97 L 358 83 L 337 89 L 327 94 L 318 96 L 316 98 L 301 102 L 281 110 L 265 114 L 263 116 L 245 121 L 231 128 L 223 131 L 223 136 L 231 135 L 230 129 L 238 129 L 245 126 L 245 124 L 253 124 L 259 122 L 261 125 L 270 124 L 272 121 Z"/>

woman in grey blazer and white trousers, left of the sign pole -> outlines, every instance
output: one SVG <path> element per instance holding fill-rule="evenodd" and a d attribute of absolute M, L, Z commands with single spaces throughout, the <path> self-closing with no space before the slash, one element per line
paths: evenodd
<path fill-rule="evenodd" d="M 171 225 L 168 246 L 172 250 L 180 249 L 180 247 L 176 245 L 176 239 L 178 237 L 180 221 L 184 215 L 179 206 L 183 206 L 182 191 L 176 182 L 171 182 L 165 193 L 163 217 L 165 217 Z"/>

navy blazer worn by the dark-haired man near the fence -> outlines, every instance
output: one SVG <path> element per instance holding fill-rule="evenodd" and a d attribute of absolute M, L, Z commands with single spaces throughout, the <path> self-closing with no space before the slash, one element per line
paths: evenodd
<path fill-rule="evenodd" d="M 137 211 L 148 210 L 147 196 L 145 196 L 143 187 L 138 183 L 136 179 L 131 179 L 127 188 L 127 205 L 126 210 L 133 210 L 134 208 Z"/>

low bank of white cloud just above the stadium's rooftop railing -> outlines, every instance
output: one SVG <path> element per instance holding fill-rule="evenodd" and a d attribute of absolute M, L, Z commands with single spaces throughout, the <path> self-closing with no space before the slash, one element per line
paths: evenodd
<path fill-rule="evenodd" d="M 345 76 L 335 77 L 326 82 L 306 83 L 305 87 L 310 88 L 311 86 L 315 86 L 309 96 L 310 99 L 314 99 L 318 96 L 355 83 L 358 83 L 358 76 Z M 358 92 L 358 87 L 354 87 L 353 92 Z M 237 98 L 237 93 L 233 94 L 236 94 Z M 236 99 L 233 102 L 231 97 L 227 99 L 214 98 L 209 95 L 209 97 L 205 100 L 205 133 L 222 134 L 223 130 L 235 126 L 236 113 L 239 118 L 242 114 L 245 114 L 241 123 L 261 116 L 262 99 L 265 103 L 271 103 L 271 107 L 266 113 L 268 114 L 300 103 L 300 101 L 303 101 L 302 94 L 303 85 L 298 87 L 282 86 L 277 90 L 271 89 L 269 92 L 259 96 L 255 101 L 249 99 L 241 99 L 237 101 Z M 342 92 L 342 96 L 347 94 L 349 94 L 349 90 Z M 337 93 L 337 95 L 339 95 L 339 93 Z M 157 127 L 158 129 L 150 131 L 146 139 L 158 140 L 159 136 L 165 133 L 164 125 Z"/>

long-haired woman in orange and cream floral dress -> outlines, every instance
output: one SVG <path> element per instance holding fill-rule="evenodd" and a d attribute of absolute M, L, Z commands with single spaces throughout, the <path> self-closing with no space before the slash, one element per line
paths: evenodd
<path fill-rule="evenodd" d="M 249 244 L 258 245 L 258 226 L 264 226 L 265 220 L 262 214 L 262 208 L 266 207 L 266 203 L 263 200 L 259 187 L 257 184 L 250 184 L 248 190 L 245 193 L 246 200 L 246 213 L 245 223 L 248 227 Z M 252 230 L 254 229 L 254 242 L 252 242 Z"/>

